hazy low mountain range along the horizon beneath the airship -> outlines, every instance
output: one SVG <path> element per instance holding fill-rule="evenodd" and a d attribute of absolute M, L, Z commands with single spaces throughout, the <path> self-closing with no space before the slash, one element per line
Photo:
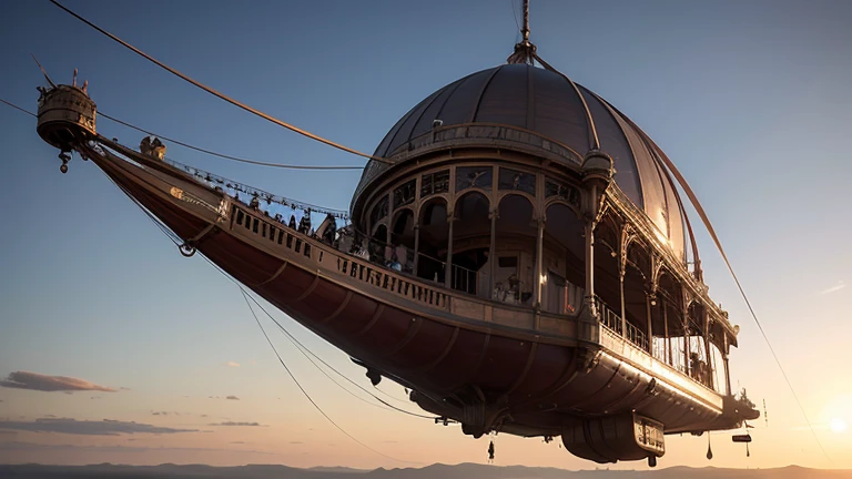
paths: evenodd
<path fill-rule="evenodd" d="M 807 469 L 788 466 L 778 469 L 718 469 L 672 467 L 651 471 L 580 470 L 525 466 L 485 466 L 460 463 L 432 465 L 419 469 L 361 470 L 343 467 L 298 469 L 274 465 L 213 467 L 203 465 L 179 466 L 120 466 L 111 463 L 91 466 L 0 465 L 3 479 L 52 478 L 245 478 L 245 479 L 852 479 L 852 470 Z"/>

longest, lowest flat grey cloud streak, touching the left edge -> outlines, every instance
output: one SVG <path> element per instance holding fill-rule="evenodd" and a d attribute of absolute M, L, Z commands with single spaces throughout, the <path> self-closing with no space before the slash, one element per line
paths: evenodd
<path fill-rule="evenodd" d="M 102 421 L 77 420 L 70 418 L 41 418 L 33 421 L 0 421 L 0 429 L 10 429 L 29 432 L 59 432 L 82 436 L 119 436 L 123 434 L 176 434 L 196 432 L 197 429 L 175 429 L 146 425 L 142 422 L 128 422 L 104 419 Z"/>

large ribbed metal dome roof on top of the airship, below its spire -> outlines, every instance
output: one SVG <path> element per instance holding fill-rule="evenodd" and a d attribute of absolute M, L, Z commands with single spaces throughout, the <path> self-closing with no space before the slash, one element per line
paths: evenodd
<path fill-rule="evenodd" d="M 393 163 L 410 157 L 407 153 L 417 149 L 417 140 L 429 134 L 436 121 L 442 128 L 479 123 L 535 133 L 576 153 L 575 161 L 564 157 L 571 167 L 578 166 L 579 159 L 597 141 L 615 162 L 619 187 L 657 225 L 672 252 L 686 261 L 686 214 L 656 147 L 629 119 L 594 92 L 558 73 L 528 64 L 505 64 L 473 73 L 434 92 L 408 111 L 376 149 L 375 155 L 390 163 L 367 164 L 353 205 L 364 188 Z"/>

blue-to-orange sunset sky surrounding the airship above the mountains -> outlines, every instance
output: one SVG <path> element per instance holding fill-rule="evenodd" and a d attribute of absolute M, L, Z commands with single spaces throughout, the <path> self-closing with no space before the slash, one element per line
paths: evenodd
<path fill-rule="evenodd" d="M 519 39 L 518 0 L 63 3 L 240 101 L 365 152 L 433 91 L 504 63 Z M 768 425 L 754 421 L 750 458 L 732 432 L 711 436 L 712 461 L 707 436 L 669 436 L 662 467 L 852 468 L 850 24 L 843 0 L 532 0 L 538 53 L 636 121 L 690 181 L 831 458 L 700 232 L 710 294 L 741 327 L 732 383 L 761 409 L 765 399 Z M 33 53 L 58 83 L 78 68 L 99 111 L 166 136 L 261 161 L 363 165 L 191 86 L 47 0 L 0 1 L 0 98 L 30 111 L 44 84 Z M 141 139 L 102 118 L 98 130 Z M 182 257 L 93 164 L 75 156 L 61 174 L 33 118 L 0 104 L 0 462 L 485 462 L 488 439 L 358 400 L 273 335 L 317 404 L 381 455 L 354 442 L 302 396 L 233 283 Z M 169 155 L 338 208 L 361 175 L 253 167 L 171 144 Z M 371 387 L 345 354 L 274 315 Z M 417 411 L 402 387 L 379 387 Z M 498 465 L 596 466 L 558 440 L 494 440 Z"/>

